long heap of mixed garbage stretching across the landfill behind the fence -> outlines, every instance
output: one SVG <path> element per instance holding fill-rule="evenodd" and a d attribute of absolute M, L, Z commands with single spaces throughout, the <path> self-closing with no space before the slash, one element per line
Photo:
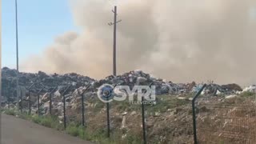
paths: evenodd
<path fill-rule="evenodd" d="M 16 70 L 11 70 L 7 67 L 2 68 L 2 103 L 11 102 L 16 104 L 21 102 L 17 99 L 16 92 Z M 34 86 L 28 90 L 32 84 Z M 66 90 L 67 86 L 70 86 L 66 90 L 66 103 L 67 106 L 78 108 L 81 102 L 79 98 L 81 96 L 78 94 L 78 91 L 84 90 L 86 86 L 90 85 L 90 88 L 86 90 L 86 96 L 95 96 L 97 94 L 98 87 L 103 84 L 112 84 L 112 85 L 125 85 L 130 86 L 130 90 L 136 85 L 145 85 L 155 86 L 155 92 L 157 95 L 161 94 L 189 94 L 198 92 L 201 89 L 202 83 L 174 83 L 170 81 L 163 80 L 161 78 L 154 78 L 151 74 L 146 74 L 142 70 L 133 70 L 125 74 L 118 76 L 110 75 L 101 80 L 95 80 L 86 76 L 79 74 L 46 74 L 42 71 L 39 71 L 37 74 L 30 73 L 20 73 L 19 74 L 19 86 L 20 93 L 18 93 L 18 98 L 22 95 L 22 105 L 24 107 L 28 106 L 28 94 L 30 92 L 31 102 L 33 104 L 34 111 L 37 112 L 36 107 L 38 106 L 38 94 L 40 95 L 40 105 L 42 106 L 43 113 L 49 113 L 49 102 L 50 102 L 50 91 L 54 91 L 53 94 L 53 106 L 56 108 L 54 110 L 56 113 L 61 114 L 59 110 L 62 107 L 63 93 Z M 55 90 L 54 90 L 55 89 Z M 227 85 L 218 85 L 214 82 L 207 83 L 206 89 L 203 90 L 202 94 L 211 94 L 211 95 L 230 95 L 238 94 L 238 92 L 250 91 L 256 92 L 256 86 L 249 86 L 246 89 L 242 90 L 237 84 L 227 84 Z"/>

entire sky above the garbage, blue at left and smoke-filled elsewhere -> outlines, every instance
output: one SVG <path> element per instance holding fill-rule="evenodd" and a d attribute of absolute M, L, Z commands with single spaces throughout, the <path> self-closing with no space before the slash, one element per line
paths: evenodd
<path fill-rule="evenodd" d="M 20 71 L 117 74 L 143 70 L 172 82 L 256 82 L 255 0 L 18 0 Z M 2 66 L 15 68 L 14 0 L 2 2 Z M 198 70 L 200 68 L 200 70 Z M 218 73 L 216 73 L 218 70 Z"/>

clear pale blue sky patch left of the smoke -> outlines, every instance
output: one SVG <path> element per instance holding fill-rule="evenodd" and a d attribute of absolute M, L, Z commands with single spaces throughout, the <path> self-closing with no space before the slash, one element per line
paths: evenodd
<path fill-rule="evenodd" d="M 15 1 L 2 0 L 2 66 L 16 67 Z M 74 26 L 68 0 L 18 0 L 20 63 Z"/>

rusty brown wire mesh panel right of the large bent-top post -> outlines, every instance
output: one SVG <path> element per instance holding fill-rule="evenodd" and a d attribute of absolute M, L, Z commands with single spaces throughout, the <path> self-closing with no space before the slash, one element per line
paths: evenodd
<path fill-rule="evenodd" d="M 198 143 L 256 142 L 254 98 L 198 98 L 197 113 Z"/>

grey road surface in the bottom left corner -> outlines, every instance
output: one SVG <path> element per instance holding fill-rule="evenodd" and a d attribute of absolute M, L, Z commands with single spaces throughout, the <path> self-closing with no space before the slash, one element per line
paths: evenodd
<path fill-rule="evenodd" d="M 1 144 L 91 144 L 14 116 L 1 115 Z"/>

